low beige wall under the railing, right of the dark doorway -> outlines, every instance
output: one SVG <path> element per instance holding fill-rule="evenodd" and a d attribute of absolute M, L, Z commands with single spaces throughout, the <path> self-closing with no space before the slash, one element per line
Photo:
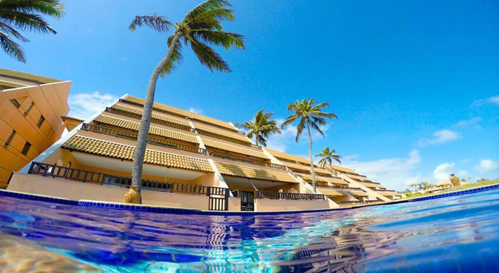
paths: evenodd
<path fill-rule="evenodd" d="M 329 202 L 326 200 L 268 200 L 256 199 L 256 211 L 285 211 L 285 210 L 314 210 L 328 209 Z"/>

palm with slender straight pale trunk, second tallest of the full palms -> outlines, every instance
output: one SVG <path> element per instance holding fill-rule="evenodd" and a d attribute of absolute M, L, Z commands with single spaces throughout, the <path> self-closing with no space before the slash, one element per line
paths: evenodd
<path fill-rule="evenodd" d="M 324 133 L 320 130 L 319 126 L 324 126 L 327 124 L 326 119 L 338 119 L 338 117 L 333 113 L 322 112 L 322 108 L 329 107 L 328 103 L 318 103 L 315 99 L 296 101 L 296 103 L 290 103 L 287 106 L 287 111 L 294 111 L 286 120 L 282 123 L 281 128 L 299 120 L 298 126 L 296 127 L 296 142 L 298 142 L 301 133 L 306 129 L 308 132 L 308 139 L 310 144 L 308 145 L 308 155 L 310 159 L 310 173 L 312 174 L 312 185 L 313 191 L 316 192 L 315 183 L 315 172 L 313 170 L 313 158 L 312 158 L 312 133 L 311 130 L 315 130 L 321 136 Z"/>

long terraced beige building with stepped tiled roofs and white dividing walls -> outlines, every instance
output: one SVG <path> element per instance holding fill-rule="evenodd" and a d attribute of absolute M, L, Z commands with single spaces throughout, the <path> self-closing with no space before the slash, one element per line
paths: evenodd
<path fill-rule="evenodd" d="M 122 202 L 143 103 L 123 96 L 60 139 L 48 156 L 28 164 L 25 173 L 15 173 L 7 189 Z M 280 211 L 389 200 L 365 186 L 350 187 L 359 183 L 346 174 L 319 167 L 319 189 L 325 192 L 313 193 L 306 159 L 257 146 L 228 122 L 159 103 L 151 121 L 142 175 L 146 205 Z"/>

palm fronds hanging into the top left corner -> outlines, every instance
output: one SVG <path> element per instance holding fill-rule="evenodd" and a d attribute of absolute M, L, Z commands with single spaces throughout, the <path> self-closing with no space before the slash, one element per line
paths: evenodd
<path fill-rule="evenodd" d="M 11 57 L 26 62 L 22 47 L 13 40 L 29 40 L 19 31 L 57 32 L 41 15 L 60 18 L 64 5 L 59 0 L 0 0 L 0 46 Z"/>

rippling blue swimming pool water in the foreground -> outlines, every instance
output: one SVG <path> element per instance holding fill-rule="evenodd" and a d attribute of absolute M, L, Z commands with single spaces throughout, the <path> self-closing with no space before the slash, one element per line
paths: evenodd
<path fill-rule="evenodd" d="M 138 213 L 0 197 L 0 239 L 11 235 L 106 273 L 499 272 L 499 190 L 261 216 Z"/>

